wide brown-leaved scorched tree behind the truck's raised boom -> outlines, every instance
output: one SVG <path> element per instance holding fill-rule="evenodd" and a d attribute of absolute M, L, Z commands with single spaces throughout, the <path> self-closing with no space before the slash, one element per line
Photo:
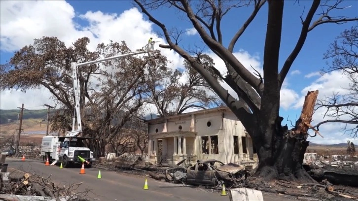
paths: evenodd
<path fill-rule="evenodd" d="M 66 47 L 56 37 L 35 39 L 34 44 L 16 52 L 8 64 L 1 65 L 1 90 L 47 89 L 60 106 L 51 119 L 52 129 L 70 131 L 74 111 L 71 63 L 132 52 L 124 41 L 98 44 L 95 51 L 88 50 L 89 42 L 83 37 Z M 149 56 L 129 56 L 79 67 L 83 134 L 99 138 L 100 153 L 142 107 L 142 95 L 147 92 L 145 69 L 165 66 L 166 62 L 156 51 Z"/>

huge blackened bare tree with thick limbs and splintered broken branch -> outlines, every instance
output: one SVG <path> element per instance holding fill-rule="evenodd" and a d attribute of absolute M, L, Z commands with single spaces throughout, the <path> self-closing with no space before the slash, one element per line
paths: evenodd
<path fill-rule="evenodd" d="M 168 45 L 163 44 L 160 47 L 173 49 L 187 60 L 191 67 L 203 76 L 208 85 L 243 123 L 252 138 L 260 161 L 256 175 L 268 180 L 278 177 L 301 181 L 311 180 L 302 168 L 302 161 L 303 154 L 308 146 L 306 141 L 307 130 L 308 127 L 312 127 L 310 125 L 312 111 L 303 108 L 302 118 L 296 123 L 296 127 L 292 131 L 288 131 L 286 126 L 281 125 L 283 118 L 279 116 L 280 90 L 310 31 L 322 24 L 340 24 L 357 20 L 356 18 L 335 17 L 331 14 L 332 10 L 340 8 L 342 1 L 314 0 L 309 9 L 304 9 L 302 16 L 300 16 L 302 28 L 299 37 L 296 40 L 292 39 L 296 41 L 296 44 L 282 67 L 279 66 L 279 56 L 285 9 L 283 0 L 134 1 L 148 19 L 157 25 L 164 34 Z M 192 50 L 184 49 L 185 44 L 180 44 L 178 40 L 180 37 L 176 34 L 180 32 L 172 32 L 170 28 L 167 28 L 168 25 L 161 22 L 163 19 L 156 17 L 155 9 L 164 9 L 165 7 L 181 12 L 182 17 L 186 18 L 184 20 L 189 21 L 196 29 L 205 43 L 204 45 L 224 61 L 227 68 L 225 75 L 221 75 L 216 68 L 213 71 L 235 91 L 239 100 L 224 89 L 215 79 L 215 76 L 192 56 Z M 224 22 L 224 17 L 228 12 L 234 10 L 233 12 L 243 13 L 240 9 L 244 9 L 244 7 L 251 8 L 251 14 L 241 27 L 232 18 L 227 19 L 230 21 Z M 258 72 L 251 73 L 250 67 L 245 67 L 240 59 L 233 54 L 235 44 L 261 9 L 268 9 L 267 30 L 266 33 L 263 33 L 266 35 L 263 44 L 263 75 Z M 299 16 L 296 17 L 299 19 Z M 221 25 L 224 23 L 239 27 L 232 38 L 225 38 L 226 34 L 221 30 Z M 224 45 L 224 41 L 228 41 L 227 46 Z M 309 92 L 306 97 L 305 105 L 309 106 L 311 110 L 317 94 L 317 91 Z"/>

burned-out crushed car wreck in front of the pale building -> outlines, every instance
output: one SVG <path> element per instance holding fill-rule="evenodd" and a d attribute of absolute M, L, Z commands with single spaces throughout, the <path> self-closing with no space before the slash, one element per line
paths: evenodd
<path fill-rule="evenodd" d="M 248 176 L 248 170 L 237 164 L 224 164 L 217 160 L 197 161 L 186 170 L 186 183 L 190 185 L 238 186 Z"/>

